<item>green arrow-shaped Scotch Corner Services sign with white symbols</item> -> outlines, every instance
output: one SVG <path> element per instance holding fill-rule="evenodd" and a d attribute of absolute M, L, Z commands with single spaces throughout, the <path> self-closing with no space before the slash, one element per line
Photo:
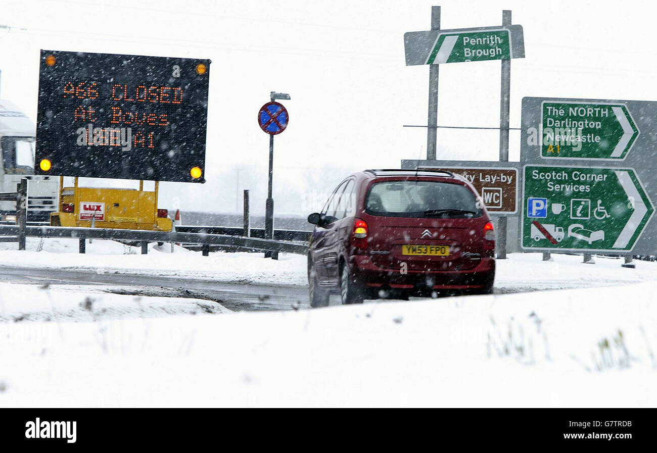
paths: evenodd
<path fill-rule="evenodd" d="M 525 165 L 522 248 L 631 251 L 654 213 L 634 169 Z"/>

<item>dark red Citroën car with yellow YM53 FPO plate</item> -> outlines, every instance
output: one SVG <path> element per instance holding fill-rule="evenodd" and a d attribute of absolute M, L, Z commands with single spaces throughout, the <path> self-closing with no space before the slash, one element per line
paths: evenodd
<path fill-rule="evenodd" d="M 449 171 L 354 173 L 308 221 L 311 307 L 338 292 L 350 304 L 493 290 L 493 223 L 472 184 Z"/>

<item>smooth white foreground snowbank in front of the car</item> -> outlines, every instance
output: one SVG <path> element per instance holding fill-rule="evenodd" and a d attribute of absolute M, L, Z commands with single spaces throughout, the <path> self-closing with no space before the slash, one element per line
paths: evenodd
<path fill-rule="evenodd" d="M 656 294 L 3 322 L 0 406 L 654 406 Z"/>

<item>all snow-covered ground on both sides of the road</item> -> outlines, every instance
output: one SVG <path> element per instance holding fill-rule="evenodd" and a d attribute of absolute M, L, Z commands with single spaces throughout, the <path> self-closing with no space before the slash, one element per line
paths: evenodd
<path fill-rule="evenodd" d="M 306 278 L 304 257 L 294 255 L 138 255 L 99 240 L 87 255 L 75 240 L 43 242 L 41 251 L 38 240 L 28 251 L 3 246 L 3 262 L 26 272 Z M 623 269 L 601 257 L 587 265 L 581 256 L 509 256 L 497 263 L 494 295 L 267 313 L 3 283 L 0 406 L 657 404 L 657 263 Z"/>

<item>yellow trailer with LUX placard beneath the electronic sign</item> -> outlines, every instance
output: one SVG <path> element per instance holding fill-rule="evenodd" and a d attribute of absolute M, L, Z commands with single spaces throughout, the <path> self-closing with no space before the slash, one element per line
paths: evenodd
<path fill-rule="evenodd" d="M 51 226 L 120 228 L 125 230 L 171 231 L 173 223 L 167 209 L 158 209 L 158 190 L 145 192 L 144 181 L 139 190 L 128 188 L 73 187 L 59 183 L 58 211 L 51 214 Z"/>

